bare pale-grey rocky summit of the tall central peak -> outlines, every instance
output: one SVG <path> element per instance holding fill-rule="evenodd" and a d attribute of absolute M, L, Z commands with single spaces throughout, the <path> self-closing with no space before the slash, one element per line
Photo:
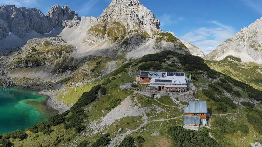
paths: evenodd
<path fill-rule="evenodd" d="M 137 29 L 148 34 L 162 32 L 159 19 L 138 0 L 113 0 L 97 21 L 119 22 L 126 27 L 127 32 Z"/>

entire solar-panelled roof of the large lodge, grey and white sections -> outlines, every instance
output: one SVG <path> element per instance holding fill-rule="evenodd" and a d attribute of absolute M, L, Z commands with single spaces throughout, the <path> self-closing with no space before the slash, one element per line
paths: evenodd
<path fill-rule="evenodd" d="M 152 78 L 151 84 L 187 84 L 184 72 L 142 71 L 140 77 Z"/>

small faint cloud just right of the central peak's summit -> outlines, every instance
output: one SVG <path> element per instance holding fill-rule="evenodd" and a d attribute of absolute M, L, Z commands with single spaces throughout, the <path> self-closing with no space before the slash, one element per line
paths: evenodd
<path fill-rule="evenodd" d="M 161 27 L 165 27 L 165 26 L 170 26 L 173 23 L 179 23 L 181 21 L 184 21 L 185 18 L 173 16 L 171 14 L 163 14 L 162 16 L 159 17 L 159 20 L 161 23 Z"/>

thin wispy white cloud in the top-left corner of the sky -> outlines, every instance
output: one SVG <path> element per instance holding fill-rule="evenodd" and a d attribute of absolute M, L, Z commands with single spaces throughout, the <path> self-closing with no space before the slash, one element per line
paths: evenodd
<path fill-rule="evenodd" d="M 15 5 L 16 7 L 28 7 L 36 4 L 36 0 L 0 0 L 0 5 Z"/>

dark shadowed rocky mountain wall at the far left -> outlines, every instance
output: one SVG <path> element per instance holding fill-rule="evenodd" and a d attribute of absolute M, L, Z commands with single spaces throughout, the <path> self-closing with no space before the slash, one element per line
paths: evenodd
<path fill-rule="evenodd" d="M 0 6 L 0 24 L 19 38 L 23 38 L 30 30 L 43 34 L 53 30 L 51 22 L 37 8 L 17 8 L 14 5 Z M 9 33 L 9 32 L 8 32 Z M 0 39 L 7 37 L 1 33 Z"/>

